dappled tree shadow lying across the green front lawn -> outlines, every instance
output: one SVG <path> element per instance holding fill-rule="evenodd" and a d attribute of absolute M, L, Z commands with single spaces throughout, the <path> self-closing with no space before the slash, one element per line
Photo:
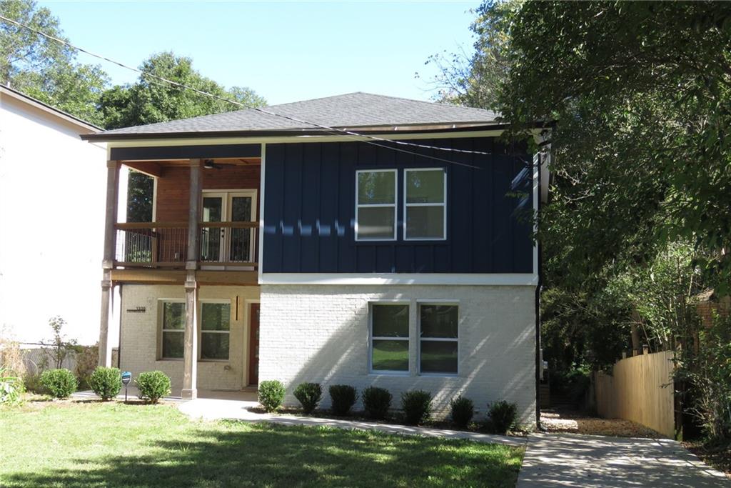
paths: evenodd
<path fill-rule="evenodd" d="M 194 440 L 191 440 L 194 439 Z M 81 469 L 10 474 L 24 486 L 513 487 L 520 451 L 374 432 L 221 422 L 145 454 L 76 459 Z"/>

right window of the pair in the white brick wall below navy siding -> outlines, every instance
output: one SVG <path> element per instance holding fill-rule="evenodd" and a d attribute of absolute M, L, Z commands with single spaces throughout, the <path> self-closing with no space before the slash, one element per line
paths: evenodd
<path fill-rule="evenodd" d="M 419 372 L 457 374 L 458 323 L 456 305 L 420 305 Z"/>

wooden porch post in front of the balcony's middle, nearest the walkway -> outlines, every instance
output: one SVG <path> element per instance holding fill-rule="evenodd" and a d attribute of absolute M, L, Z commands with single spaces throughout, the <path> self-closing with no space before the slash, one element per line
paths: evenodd
<path fill-rule="evenodd" d="M 200 159 L 190 160 L 190 192 L 188 204 L 188 256 L 185 268 L 185 337 L 183 349 L 183 391 L 181 397 L 198 396 L 198 284 L 195 271 L 198 267 L 198 220 L 200 218 L 200 189 L 202 184 Z"/>

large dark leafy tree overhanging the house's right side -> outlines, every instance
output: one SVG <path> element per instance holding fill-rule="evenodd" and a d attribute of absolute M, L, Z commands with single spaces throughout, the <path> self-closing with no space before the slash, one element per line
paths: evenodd
<path fill-rule="evenodd" d="M 510 34 L 499 109 L 516 135 L 556 121 L 539 233 L 564 282 L 683 239 L 729 290 L 731 4 L 529 1 Z"/>

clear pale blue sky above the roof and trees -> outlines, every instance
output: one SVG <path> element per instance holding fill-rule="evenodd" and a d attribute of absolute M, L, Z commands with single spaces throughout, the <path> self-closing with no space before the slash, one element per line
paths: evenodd
<path fill-rule="evenodd" d="M 480 1 L 39 1 L 71 42 L 132 66 L 173 50 L 270 104 L 368 91 L 430 100 L 433 53 L 471 50 Z M 94 62 L 81 54 L 79 61 Z M 101 63 L 113 83 L 134 72 Z M 420 79 L 414 78 L 419 72 Z"/>

